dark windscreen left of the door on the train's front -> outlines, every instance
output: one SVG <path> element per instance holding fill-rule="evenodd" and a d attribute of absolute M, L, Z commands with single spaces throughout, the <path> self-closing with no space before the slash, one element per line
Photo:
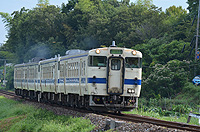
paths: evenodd
<path fill-rule="evenodd" d="M 89 56 L 89 66 L 106 67 L 106 56 Z"/>

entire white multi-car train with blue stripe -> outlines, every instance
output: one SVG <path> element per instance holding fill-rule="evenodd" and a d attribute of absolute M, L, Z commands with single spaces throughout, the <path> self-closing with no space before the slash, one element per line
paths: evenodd
<path fill-rule="evenodd" d="M 15 65 L 16 95 L 99 111 L 136 108 L 142 53 L 105 47 L 69 50 L 65 56 Z"/>

